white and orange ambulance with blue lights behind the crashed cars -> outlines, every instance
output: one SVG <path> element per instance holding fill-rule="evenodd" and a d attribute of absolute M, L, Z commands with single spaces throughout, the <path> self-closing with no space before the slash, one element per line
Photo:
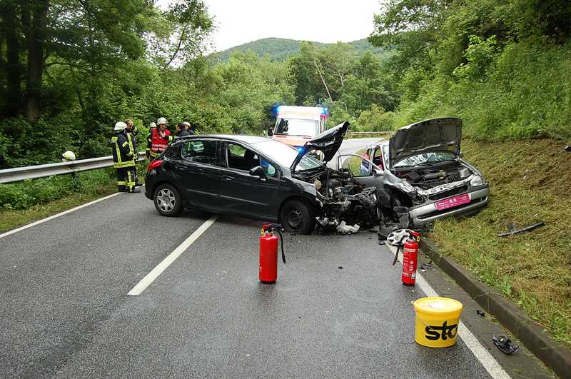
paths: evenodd
<path fill-rule="evenodd" d="M 329 111 L 321 106 L 278 106 L 272 138 L 299 151 L 328 128 Z"/>

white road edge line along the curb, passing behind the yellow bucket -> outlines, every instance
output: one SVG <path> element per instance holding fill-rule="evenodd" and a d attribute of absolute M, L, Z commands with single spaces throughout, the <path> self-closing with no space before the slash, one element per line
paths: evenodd
<path fill-rule="evenodd" d="M 385 246 L 389 248 L 391 253 L 394 254 L 396 252 L 395 251 L 396 248 L 393 249 L 393 246 L 388 246 L 388 244 L 386 243 Z M 398 259 L 400 262 L 403 261 L 402 253 L 398 253 Z M 432 285 L 430 285 L 426 281 L 426 279 L 422 276 L 422 274 L 420 274 L 418 271 L 416 273 L 416 283 L 428 297 L 439 296 L 438 293 L 432 287 Z M 479 360 L 480 363 L 482 363 L 482 366 L 484 366 L 487 373 L 489 373 L 492 378 L 495 379 L 511 378 L 510 375 L 506 373 L 505 370 L 502 368 L 500 363 L 497 363 L 497 360 L 495 360 L 495 358 L 490 354 L 490 352 L 488 352 L 486 348 L 482 346 L 480 341 L 477 340 L 475 335 L 473 335 L 470 329 L 468 329 L 468 327 L 466 327 L 466 325 L 464 325 L 462 321 L 460 321 L 460 324 L 458 325 L 458 336 L 462 338 L 466 346 L 468 346 L 470 351 L 472 351 L 477 360 Z"/>

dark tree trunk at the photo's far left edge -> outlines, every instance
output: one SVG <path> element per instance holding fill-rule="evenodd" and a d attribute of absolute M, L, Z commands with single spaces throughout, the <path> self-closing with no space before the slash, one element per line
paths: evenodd
<path fill-rule="evenodd" d="M 4 16 L 2 34 L 6 41 L 6 116 L 16 116 L 21 110 L 21 64 L 18 17 L 16 4 L 6 2 L 0 7 Z"/>

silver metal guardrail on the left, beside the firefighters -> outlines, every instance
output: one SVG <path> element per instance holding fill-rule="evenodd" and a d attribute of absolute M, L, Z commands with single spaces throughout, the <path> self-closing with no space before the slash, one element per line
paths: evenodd
<path fill-rule="evenodd" d="M 137 161 L 145 158 L 145 151 L 139 151 Z M 6 168 L 0 170 L 0 183 L 14 183 L 26 179 L 46 178 L 47 176 L 74 174 L 79 171 L 96 170 L 113 166 L 113 156 L 80 159 L 79 161 L 41 164 L 38 166 Z"/>

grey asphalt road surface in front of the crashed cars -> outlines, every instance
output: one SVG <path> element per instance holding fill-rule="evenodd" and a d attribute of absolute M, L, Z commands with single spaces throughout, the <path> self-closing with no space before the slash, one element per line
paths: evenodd
<path fill-rule="evenodd" d="M 0 238 L 0 378 L 490 377 L 462 339 L 414 343 L 425 293 L 368 231 L 286 235 L 288 263 L 264 285 L 261 223 L 219 216 L 127 295 L 210 217 L 121 193 Z"/>

